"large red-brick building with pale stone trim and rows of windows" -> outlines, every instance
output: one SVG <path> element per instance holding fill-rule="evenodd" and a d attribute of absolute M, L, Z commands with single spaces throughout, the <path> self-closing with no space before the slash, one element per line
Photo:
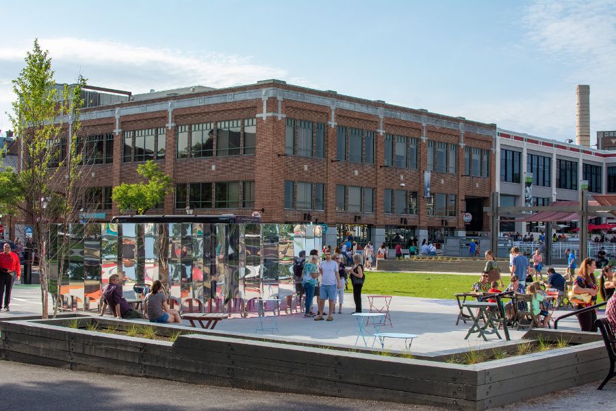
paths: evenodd
<path fill-rule="evenodd" d="M 84 208 L 101 220 L 119 214 L 111 188 L 155 160 L 175 193 L 152 214 L 259 211 L 264 222 L 326 223 L 329 244 L 349 232 L 393 245 L 490 229 L 493 124 L 279 80 L 143 95 L 90 88 L 87 101 Z M 66 151 L 66 139 L 57 144 Z"/>

